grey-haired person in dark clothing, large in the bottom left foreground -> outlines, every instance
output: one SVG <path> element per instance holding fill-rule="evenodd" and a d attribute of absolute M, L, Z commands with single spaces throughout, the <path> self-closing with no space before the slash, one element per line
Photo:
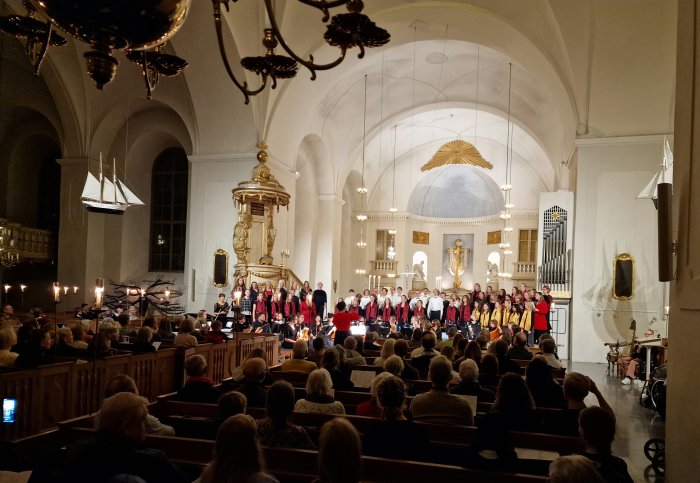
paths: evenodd
<path fill-rule="evenodd" d="M 95 436 L 66 452 L 65 481 L 108 483 L 117 475 L 130 475 L 149 482 L 190 482 L 161 451 L 143 446 L 147 416 L 146 398 L 120 392 L 105 399 L 95 417 Z"/>

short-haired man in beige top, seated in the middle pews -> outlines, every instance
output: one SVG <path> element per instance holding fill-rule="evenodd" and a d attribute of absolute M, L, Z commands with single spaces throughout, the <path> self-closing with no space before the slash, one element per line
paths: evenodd
<path fill-rule="evenodd" d="M 448 385 L 452 380 L 452 364 L 445 356 L 432 358 L 428 379 L 432 383 L 430 391 L 413 398 L 411 407 L 413 419 L 472 426 L 474 415 L 469 402 L 448 391 Z"/>

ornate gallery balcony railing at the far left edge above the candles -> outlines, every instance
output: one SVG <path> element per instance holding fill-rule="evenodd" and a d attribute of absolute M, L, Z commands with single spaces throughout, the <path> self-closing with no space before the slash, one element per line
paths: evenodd
<path fill-rule="evenodd" d="M 56 240 L 48 230 L 29 228 L 0 218 L 0 250 L 19 259 L 50 260 Z"/>

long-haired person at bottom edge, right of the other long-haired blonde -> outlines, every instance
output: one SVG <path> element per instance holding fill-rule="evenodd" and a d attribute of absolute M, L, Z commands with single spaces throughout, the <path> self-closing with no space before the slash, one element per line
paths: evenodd
<path fill-rule="evenodd" d="M 328 421 L 321 427 L 314 483 L 359 483 L 361 475 L 362 443 L 357 430 L 345 418 Z"/>

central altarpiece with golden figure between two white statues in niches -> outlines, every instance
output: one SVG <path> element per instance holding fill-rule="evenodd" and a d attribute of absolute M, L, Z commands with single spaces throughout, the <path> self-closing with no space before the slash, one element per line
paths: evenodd
<path fill-rule="evenodd" d="M 442 236 L 440 289 L 467 290 L 474 285 L 474 234 Z"/>

